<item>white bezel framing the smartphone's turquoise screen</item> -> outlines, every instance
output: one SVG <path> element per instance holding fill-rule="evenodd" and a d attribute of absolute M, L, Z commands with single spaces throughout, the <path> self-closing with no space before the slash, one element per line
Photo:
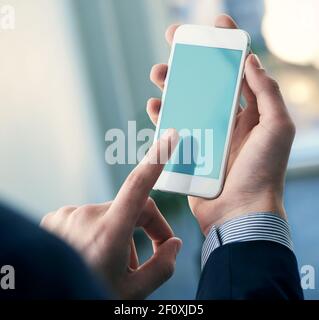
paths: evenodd
<path fill-rule="evenodd" d="M 232 105 L 232 111 L 230 115 L 230 124 L 228 126 L 228 132 L 225 142 L 225 149 L 223 154 L 223 160 L 221 164 L 221 174 L 219 179 L 212 179 L 207 177 L 199 177 L 193 175 L 187 175 L 177 172 L 163 171 L 159 177 L 157 183 L 154 186 L 154 190 L 160 190 L 165 192 L 174 192 L 192 196 L 198 196 L 208 199 L 218 197 L 221 193 L 225 180 L 226 164 L 229 155 L 231 136 L 235 124 L 235 116 L 239 104 L 241 84 L 244 76 L 244 65 L 247 54 L 250 50 L 250 37 L 247 32 L 240 29 L 222 29 L 209 26 L 199 25 L 181 25 L 175 32 L 170 58 L 168 61 L 168 72 L 165 80 L 162 106 L 165 105 L 165 96 L 167 91 L 167 84 L 169 83 L 171 64 L 174 57 L 176 44 L 188 44 L 198 45 L 204 47 L 225 48 L 242 50 L 242 57 L 240 62 L 240 69 L 237 78 L 237 84 L 234 94 L 234 100 Z M 157 141 L 159 136 L 161 118 L 163 114 L 161 108 L 158 123 L 156 127 L 154 142 Z"/>

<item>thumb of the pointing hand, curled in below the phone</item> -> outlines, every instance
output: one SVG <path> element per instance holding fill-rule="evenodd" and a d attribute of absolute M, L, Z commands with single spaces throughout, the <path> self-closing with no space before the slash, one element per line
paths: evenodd
<path fill-rule="evenodd" d="M 179 238 L 170 238 L 161 244 L 154 255 L 134 272 L 134 286 L 136 296 L 140 299 L 160 287 L 174 273 L 176 256 L 180 251 L 182 241 Z"/>

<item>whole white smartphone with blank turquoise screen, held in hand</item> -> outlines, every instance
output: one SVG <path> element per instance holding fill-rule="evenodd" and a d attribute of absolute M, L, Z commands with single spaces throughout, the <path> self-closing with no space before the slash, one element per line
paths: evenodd
<path fill-rule="evenodd" d="M 155 190 L 209 199 L 221 193 L 249 51 L 243 30 L 176 30 L 154 141 L 168 128 L 180 141 Z"/>

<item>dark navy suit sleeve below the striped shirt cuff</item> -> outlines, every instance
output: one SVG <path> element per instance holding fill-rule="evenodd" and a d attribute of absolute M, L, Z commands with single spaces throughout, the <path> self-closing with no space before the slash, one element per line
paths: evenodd
<path fill-rule="evenodd" d="M 296 257 L 272 241 L 220 246 L 205 264 L 197 299 L 303 299 Z"/>

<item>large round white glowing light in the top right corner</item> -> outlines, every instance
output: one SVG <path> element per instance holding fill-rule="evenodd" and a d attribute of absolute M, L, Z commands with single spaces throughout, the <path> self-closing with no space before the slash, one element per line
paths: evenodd
<path fill-rule="evenodd" d="M 265 0 L 265 8 L 269 50 L 290 63 L 319 65 L 319 1 Z"/>

